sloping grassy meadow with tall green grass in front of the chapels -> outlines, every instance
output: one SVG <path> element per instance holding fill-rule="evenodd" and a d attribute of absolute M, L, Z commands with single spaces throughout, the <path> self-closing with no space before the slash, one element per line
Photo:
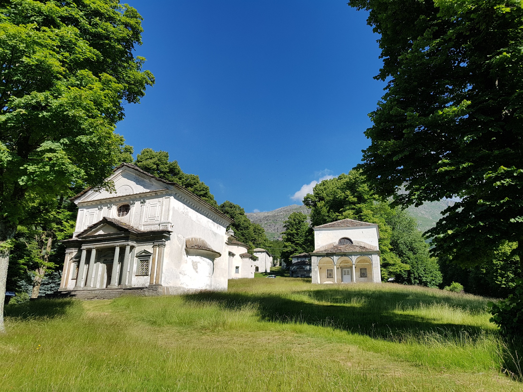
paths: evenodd
<path fill-rule="evenodd" d="M 6 307 L 0 390 L 520 391 L 486 298 L 397 284 Z"/>

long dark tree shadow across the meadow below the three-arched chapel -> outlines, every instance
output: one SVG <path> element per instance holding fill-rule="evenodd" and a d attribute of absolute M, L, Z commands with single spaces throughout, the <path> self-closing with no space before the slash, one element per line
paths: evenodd
<path fill-rule="evenodd" d="M 444 303 L 452 308 L 480 311 L 482 305 L 472 299 L 438 298 L 420 292 L 378 292 L 362 287 L 361 290 L 321 289 L 302 291 L 314 302 L 267 293 L 202 292 L 186 295 L 190 300 L 215 301 L 229 308 L 247 303 L 258 304 L 260 317 L 265 321 L 303 322 L 305 324 L 332 327 L 360 333 L 372 338 L 404 341 L 437 334 L 450 340 L 476 340 L 492 330 L 474 325 L 438 322 L 436 317 L 402 313 L 405 307 L 422 308 Z M 295 295 L 294 297 L 297 297 Z M 321 304 L 317 302 L 322 302 Z"/>

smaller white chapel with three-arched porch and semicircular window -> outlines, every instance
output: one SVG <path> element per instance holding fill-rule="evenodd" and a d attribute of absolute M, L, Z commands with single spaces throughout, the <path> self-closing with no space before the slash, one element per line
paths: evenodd
<path fill-rule="evenodd" d="M 312 283 L 381 283 L 378 225 L 344 219 L 313 230 Z"/>

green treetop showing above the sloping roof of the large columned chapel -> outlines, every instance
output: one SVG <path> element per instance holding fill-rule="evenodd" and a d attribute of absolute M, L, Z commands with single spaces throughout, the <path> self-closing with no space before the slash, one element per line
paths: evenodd
<path fill-rule="evenodd" d="M 125 153 L 126 152 L 122 150 L 123 159 L 127 157 Z M 126 161 L 122 160 L 122 162 Z M 218 203 L 214 200 L 214 195 L 211 193 L 209 187 L 205 185 L 204 182 L 200 181 L 200 177 L 195 174 L 184 173 L 180 169 L 176 160 L 169 162 L 168 152 L 154 151 L 152 148 L 144 148 L 140 154 L 137 155 L 134 164 L 140 169 L 165 181 L 179 183 L 181 186 L 187 188 L 212 206 L 218 207 Z"/>

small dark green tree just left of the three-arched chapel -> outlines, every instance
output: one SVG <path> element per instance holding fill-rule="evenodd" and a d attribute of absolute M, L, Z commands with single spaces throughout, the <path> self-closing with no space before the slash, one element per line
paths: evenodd
<path fill-rule="evenodd" d="M 314 250 L 314 233 L 307 219 L 308 216 L 303 212 L 293 212 L 283 222 L 285 230 L 281 233 L 283 239 L 281 258 L 286 263 L 291 261 L 292 255 Z"/>

